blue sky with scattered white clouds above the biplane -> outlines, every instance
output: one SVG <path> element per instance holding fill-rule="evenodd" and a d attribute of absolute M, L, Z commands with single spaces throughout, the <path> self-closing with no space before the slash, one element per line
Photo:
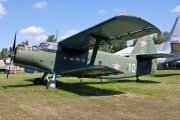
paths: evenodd
<path fill-rule="evenodd" d="M 56 34 L 58 41 L 120 13 L 139 16 L 170 32 L 180 15 L 180 0 L 0 0 L 0 50 L 28 40 L 44 42 Z"/>

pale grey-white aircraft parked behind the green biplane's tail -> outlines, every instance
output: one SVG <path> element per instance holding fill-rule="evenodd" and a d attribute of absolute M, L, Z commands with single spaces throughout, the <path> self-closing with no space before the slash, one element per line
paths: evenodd
<path fill-rule="evenodd" d="M 134 47 L 128 47 L 114 54 L 129 56 L 133 48 Z M 169 58 L 158 58 L 158 64 L 180 60 L 180 15 L 177 16 L 168 38 L 163 43 L 156 45 L 156 50 L 157 53 L 173 54 L 175 56 Z"/>

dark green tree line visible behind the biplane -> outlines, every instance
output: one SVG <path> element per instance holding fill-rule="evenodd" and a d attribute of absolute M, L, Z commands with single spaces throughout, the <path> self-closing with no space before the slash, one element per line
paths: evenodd
<path fill-rule="evenodd" d="M 154 34 L 152 36 L 152 39 L 154 40 L 155 44 L 160 44 L 164 40 L 166 40 L 168 36 L 169 36 L 169 32 L 165 31 L 165 32 Z M 48 38 L 46 39 L 46 42 L 57 42 L 57 39 L 55 38 L 55 35 L 52 34 L 48 36 Z M 133 44 L 131 46 L 135 46 L 136 42 L 137 42 L 137 39 L 134 39 Z M 28 40 L 23 41 L 21 44 L 29 46 L 29 41 Z M 99 50 L 104 51 L 104 52 L 109 52 L 109 53 L 115 53 L 126 47 L 127 47 L 127 42 L 121 42 L 120 44 L 100 45 Z M 0 59 L 8 58 L 9 57 L 8 54 L 9 54 L 9 49 L 3 48 L 0 52 Z"/>

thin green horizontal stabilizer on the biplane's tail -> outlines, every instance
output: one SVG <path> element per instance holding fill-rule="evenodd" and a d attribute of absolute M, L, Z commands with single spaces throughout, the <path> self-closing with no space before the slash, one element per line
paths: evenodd
<path fill-rule="evenodd" d="M 172 54 L 165 54 L 165 53 L 156 53 L 156 54 L 141 54 L 141 55 L 137 55 L 138 57 L 141 58 L 169 58 L 169 57 L 175 57 Z"/>

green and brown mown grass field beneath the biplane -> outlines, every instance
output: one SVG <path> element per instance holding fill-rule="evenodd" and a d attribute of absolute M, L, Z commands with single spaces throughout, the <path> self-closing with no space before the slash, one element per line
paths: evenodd
<path fill-rule="evenodd" d="M 42 73 L 0 73 L 2 119 L 180 119 L 180 70 L 119 80 L 57 78 L 58 88 L 33 85 Z"/>

